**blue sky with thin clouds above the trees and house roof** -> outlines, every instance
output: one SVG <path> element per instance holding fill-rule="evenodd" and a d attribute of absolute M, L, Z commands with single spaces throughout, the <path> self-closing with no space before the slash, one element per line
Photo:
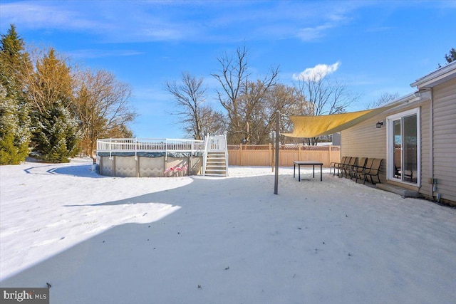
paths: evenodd
<path fill-rule="evenodd" d="M 279 66 L 279 82 L 326 70 L 361 95 L 363 110 L 383 93 L 413 93 L 456 48 L 456 1 L 5 1 L 0 31 L 14 23 L 26 43 L 109 70 L 133 88 L 132 124 L 141 138 L 181 138 L 167 80 L 204 78 L 217 58 L 245 45 L 253 75 Z"/>

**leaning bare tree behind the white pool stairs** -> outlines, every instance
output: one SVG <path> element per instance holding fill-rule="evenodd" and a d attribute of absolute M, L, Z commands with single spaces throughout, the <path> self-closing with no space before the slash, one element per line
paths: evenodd
<path fill-rule="evenodd" d="M 174 96 L 176 112 L 180 124 L 195 140 L 202 140 L 204 132 L 215 133 L 222 129 L 222 114 L 206 105 L 206 88 L 203 78 L 196 78 L 190 73 L 182 72 L 182 82 L 167 81 L 165 90 Z"/>

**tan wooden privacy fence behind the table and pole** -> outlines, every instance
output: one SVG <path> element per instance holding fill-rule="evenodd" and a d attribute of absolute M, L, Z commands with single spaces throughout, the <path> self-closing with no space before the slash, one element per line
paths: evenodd
<path fill-rule="evenodd" d="M 340 146 L 282 145 L 279 150 L 281 167 L 292 167 L 295 160 L 315 160 L 323 162 L 323 167 L 341 161 Z M 275 149 L 271 144 L 228 145 L 228 163 L 232 166 L 273 166 L 274 154 Z"/>

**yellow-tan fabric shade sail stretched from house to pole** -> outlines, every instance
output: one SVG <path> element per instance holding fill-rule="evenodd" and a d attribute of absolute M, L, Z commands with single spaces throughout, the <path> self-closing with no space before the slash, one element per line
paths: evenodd
<path fill-rule="evenodd" d="M 283 133 L 282 135 L 289 137 L 318 137 L 341 132 L 349 127 L 358 125 L 358 123 L 368 120 L 385 110 L 393 108 L 393 106 L 395 105 L 333 115 L 290 116 L 290 120 L 294 125 L 294 130 L 291 133 Z"/>

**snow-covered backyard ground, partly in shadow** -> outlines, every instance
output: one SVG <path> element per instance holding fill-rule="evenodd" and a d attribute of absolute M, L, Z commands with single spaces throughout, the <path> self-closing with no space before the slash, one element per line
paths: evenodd
<path fill-rule="evenodd" d="M 0 167 L 1 287 L 51 303 L 455 303 L 456 209 L 304 169 Z M 303 169 L 301 169 L 301 174 Z M 319 177 L 319 176 L 318 176 Z"/>

